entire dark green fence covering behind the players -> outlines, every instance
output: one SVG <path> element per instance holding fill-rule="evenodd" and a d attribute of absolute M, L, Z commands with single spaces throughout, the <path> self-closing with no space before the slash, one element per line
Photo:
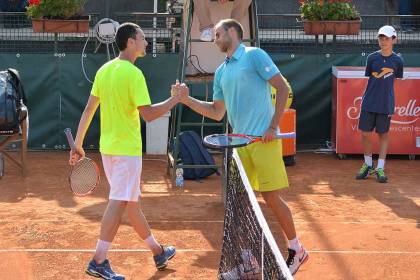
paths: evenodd
<path fill-rule="evenodd" d="M 397 50 L 398 51 L 398 50 Z M 292 107 L 297 110 L 297 144 L 299 148 L 319 147 L 330 140 L 331 67 L 364 66 L 365 53 L 358 54 L 271 54 L 280 71 L 290 81 L 295 93 Z M 405 66 L 419 67 L 418 53 L 402 54 Z M 106 62 L 105 55 L 88 55 L 85 71 L 93 79 L 96 70 Z M 152 102 L 169 96 L 176 78 L 177 54 L 151 55 L 137 60 L 149 87 Z M 29 148 L 63 149 L 63 129 L 76 129 L 90 93 L 91 84 L 76 54 L 0 54 L 0 69 L 14 67 L 22 75 L 28 96 L 30 114 Z M 192 86 L 193 94 L 204 98 L 202 86 Z M 210 87 L 211 98 L 211 87 Z M 201 116 L 187 111 L 186 119 L 201 121 Z M 144 125 L 143 125 L 144 128 Z M 85 145 L 98 148 L 98 117 L 88 131 Z M 145 137 L 144 137 L 145 139 Z M 144 145 L 145 147 L 145 145 Z"/>

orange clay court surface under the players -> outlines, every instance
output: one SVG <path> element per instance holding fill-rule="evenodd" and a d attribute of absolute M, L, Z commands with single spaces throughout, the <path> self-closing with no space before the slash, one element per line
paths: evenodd
<path fill-rule="evenodd" d="M 83 271 L 96 244 L 108 184 L 102 177 L 94 194 L 73 197 L 67 157 L 29 153 L 25 179 L 6 161 L 0 180 L 0 279 L 94 279 Z M 177 255 L 165 271 L 156 271 L 124 219 L 109 255 L 113 268 L 126 279 L 216 279 L 224 215 L 220 177 L 186 181 L 178 189 L 166 176 L 164 157 L 146 159 L 142 207 L 157 239 L 175 245 Z M 354 180 L 360 163 L 298 153 L 297 165 L 287 168 L 291 187 L 284 198 L 310 254 L 296 280 L 418 279 L 420 161 L 388 160 L 388 184 Z M 262 209 L 284 250 L 278 224 L 263 204 Z"/>

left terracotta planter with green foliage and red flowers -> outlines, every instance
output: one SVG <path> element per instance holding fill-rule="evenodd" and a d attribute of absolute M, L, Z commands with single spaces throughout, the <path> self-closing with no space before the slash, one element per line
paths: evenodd
<path fill-rule="evenodd" d="M 29 0 L 26 14 L 34 32 L 87 33 L 89 16 L 83 16 L 87 0 Z"/>

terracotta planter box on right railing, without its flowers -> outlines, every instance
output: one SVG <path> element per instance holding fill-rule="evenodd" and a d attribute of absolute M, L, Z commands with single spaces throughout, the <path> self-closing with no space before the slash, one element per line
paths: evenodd
<path fill-rule="evenodd" d="M 362 19 L 346 21 L 303 21 L 307 35 L 358 35 Z"/>

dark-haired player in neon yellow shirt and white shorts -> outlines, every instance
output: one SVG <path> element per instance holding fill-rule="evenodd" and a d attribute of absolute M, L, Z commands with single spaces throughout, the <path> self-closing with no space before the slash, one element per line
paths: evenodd
<path fill-rule="evenodd" d="M 70 152 L 70 164 L 84 157 L 83 139 L 100 106 L 100 152 L 110 193 L 96 252 L 86 273 L 103 279 L 121 280 L 125 278 L 111 269 L 107 252 L 124 211 L 127 211 L 134 230 L 151 250 L 157 269 L 164 269 L 175 255 L 175 247 L 164 247 L 156 241 L 140 208 L 140 116 L 147 122 L 162 116 L 177 104 L 182 93 L 151 105 L 143 73 L 134 65 L 138 57 L 146 55 L 148 43 L 143 31 L 134 23 L 124 23 L 116 32 L 115 42 L 120 54 L 96 73 L 91 95 L 80 119 L 76 149 Z"/>

